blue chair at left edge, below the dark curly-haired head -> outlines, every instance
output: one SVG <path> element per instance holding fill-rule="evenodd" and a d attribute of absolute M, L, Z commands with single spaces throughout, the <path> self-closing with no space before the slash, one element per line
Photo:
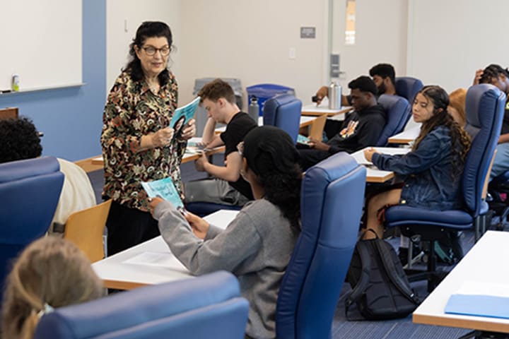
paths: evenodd
<path fill-rule="evenodd" d="M 47 232 L 63 184 L 55 157 L 0 164 L 0 287 L 12 259 Z"/>

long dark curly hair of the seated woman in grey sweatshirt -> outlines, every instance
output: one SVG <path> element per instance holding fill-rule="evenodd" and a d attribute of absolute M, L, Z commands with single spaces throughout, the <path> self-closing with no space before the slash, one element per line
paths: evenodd
<path fill-rule="evenodd" d="M 274 126 L 256 127 L 245 136 L 242 155 L 263 186 L 264 198 L 278 206 L 292 229 L 299 232 L 302 170 L 291 137 Z"/>

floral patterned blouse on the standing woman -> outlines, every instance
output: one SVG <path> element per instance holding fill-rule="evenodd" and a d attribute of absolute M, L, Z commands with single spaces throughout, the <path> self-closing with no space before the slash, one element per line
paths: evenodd
<path fill-rule="evenodd" d="M 105 185 L 103 194 L 129 208 L 148 210 L 148 200 L 141 182 L 172 177 L 180 196 L 180 162 L 186 141 L 174 138 L 165 147 L 138 151 L 141 136 L 170 125 L 177 108 L 177 81 L 170 79 L 154 94 L 146 81 L 133 81 L 122 72 L 107 97 L 103 114 Z M 183 196 L 182 196 L 183 198 Z"/>

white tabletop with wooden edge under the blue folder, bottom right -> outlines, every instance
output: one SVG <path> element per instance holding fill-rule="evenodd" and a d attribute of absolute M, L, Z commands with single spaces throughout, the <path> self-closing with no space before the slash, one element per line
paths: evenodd
<path fill-rule="evenodd" d="M 455 294 L 464 281 L 507 284 L 509 289 L 508 258 L 509 232 L 486 232 L 414 311 L 414 323 L 509 333 L 509 319 L 444 313 L 450 295 Z"/>

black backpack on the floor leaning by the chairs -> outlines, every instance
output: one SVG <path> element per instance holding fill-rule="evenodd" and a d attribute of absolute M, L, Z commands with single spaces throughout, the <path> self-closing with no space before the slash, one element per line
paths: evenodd
<path fill-rule="evenodd" d="M 362 237 L 363 234 L 353 251 L 346 275 L 352 287 L 346 295 L 346 317 L 353 303 L 368 320 L 408 316 L 421 301 L 411 289 L 396 251 L 378 236 L 368 240 L 361 240 Z"/>

